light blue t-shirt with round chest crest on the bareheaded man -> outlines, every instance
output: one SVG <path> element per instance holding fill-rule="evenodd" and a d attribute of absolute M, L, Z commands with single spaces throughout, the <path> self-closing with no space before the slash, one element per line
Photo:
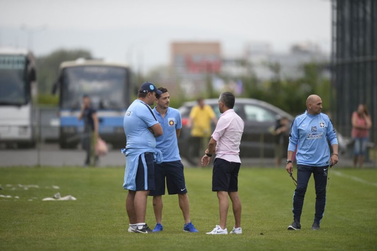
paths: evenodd
<path fill-rule="evenodd" d="M 179 110 L 168 107 L 165 117 L 153 109 L 158 122 L 161 124 L 164 134 L 156 138 L 156 148 L 162 152 L 164 162 L 181 160 L 179 157 L 176 130 L 182 128 L 181 113 Z"/>

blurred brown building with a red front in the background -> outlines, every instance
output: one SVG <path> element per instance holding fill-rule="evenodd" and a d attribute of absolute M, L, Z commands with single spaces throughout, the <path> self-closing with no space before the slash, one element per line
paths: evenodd
<path fill-rule="evenodd" d="M 187 95 L 205 92 L 212 75 L 221 71 L 219 42 L 173 42 L 170 49 L 173 76 Z"/>

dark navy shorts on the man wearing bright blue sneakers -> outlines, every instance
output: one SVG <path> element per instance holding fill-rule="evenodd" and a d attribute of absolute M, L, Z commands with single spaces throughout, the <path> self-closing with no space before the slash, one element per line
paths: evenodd
<path fill-rule="evenodd" d="M 165 194 L 165 177 L 168 194 L 187 193 L 183 165 L 181 161 L 155 163 L 155 190 L 150 191 L 150 196 Z"/>

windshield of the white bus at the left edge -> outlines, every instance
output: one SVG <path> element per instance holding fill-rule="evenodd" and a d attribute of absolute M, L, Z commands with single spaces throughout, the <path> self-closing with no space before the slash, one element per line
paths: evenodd
<path fill-rule="evenodd" d="M 26 104 L 26 57 L 0 55 L 0 105 Z"/>

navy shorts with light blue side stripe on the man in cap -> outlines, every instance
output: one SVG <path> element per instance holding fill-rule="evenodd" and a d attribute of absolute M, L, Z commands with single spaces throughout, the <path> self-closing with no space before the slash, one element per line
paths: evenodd
<path fill-rule="evenodd" d="M 155 168 L 153 163 L 153 153 L 144 153 L 144 158 L 147 168 L 144 168 L 141 155 L 139 156 L 139 165 L 135 178 L 136 191 L 155 190 Z"/>

